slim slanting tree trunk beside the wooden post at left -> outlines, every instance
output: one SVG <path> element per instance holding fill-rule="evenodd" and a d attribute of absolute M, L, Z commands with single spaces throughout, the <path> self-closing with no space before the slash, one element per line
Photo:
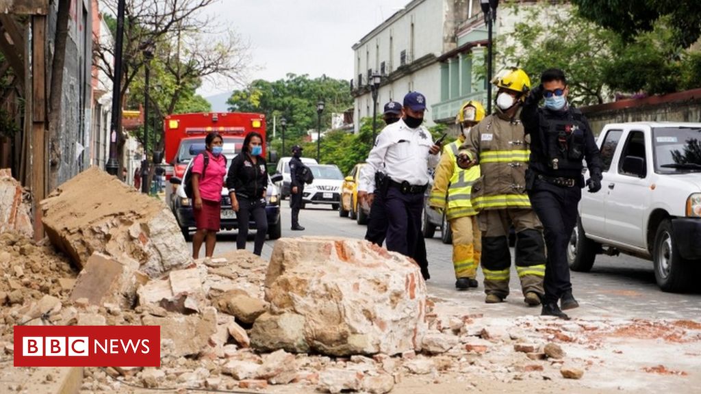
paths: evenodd
<path fill-rule="evenodd" d="M 51 64 L 51 85 L 49 92 L 48 138 L 49 138 L 49 176 L 48 190 L 56 188 L 61 152 L 58 148 L 61 132 L 61 98 L 63 93 L 63 65 L 66 60 L 66 41 L 68 38 L 68 18 L 71 0 L 58 1 L 56 36 Z"/>

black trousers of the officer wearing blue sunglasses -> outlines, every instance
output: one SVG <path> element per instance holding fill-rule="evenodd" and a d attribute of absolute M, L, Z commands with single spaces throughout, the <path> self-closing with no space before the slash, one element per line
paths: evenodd
<path fill-rule="evenodd" d="M 577 225 L 577 204 L 582 198 L 579 186 L 562 187 L 536 179 L 529 191 L 531 206 L 543 223 L 547 246 L 545 264 L 545 302 L 557 302 L 572 290 L 567 245 Z"/>

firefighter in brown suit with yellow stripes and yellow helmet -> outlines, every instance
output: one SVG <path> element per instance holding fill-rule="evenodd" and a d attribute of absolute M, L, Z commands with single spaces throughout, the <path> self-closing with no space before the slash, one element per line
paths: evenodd
<path fill-rule="evenodd" d="M 495 79 L 496 111 L 472 128 L 458 154 L 458 165 L 479 165 L 480 177 L 472 184 L 472 207 L 479 212 L 482 232 L 481 265 L 487 304 L 504 301 L 509 294 L 510 226 L 516 231 L 515 263 L 524 301 L 540 304 L 545 276 L 542 225 L 526 194 L 529 142 L 519 118 L 531 80 L 522 69 Z"/>

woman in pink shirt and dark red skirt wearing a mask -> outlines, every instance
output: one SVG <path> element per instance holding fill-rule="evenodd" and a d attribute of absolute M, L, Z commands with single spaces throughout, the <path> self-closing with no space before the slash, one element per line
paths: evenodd
<path fill-rule="evenodd" d="M 222 186 L 226 175 L 226 158 L 222 155 L 223 145 L 222 136 L 217 132 L 210 132 L 205 137 L 205 151 L 193 159 L 192 212 L 197 228 L 192 237 L 193 259 L 199 258 L 203 242 L 205 257 L 212 257 L 215 251 L 219 220 L 222 215 Z"/>

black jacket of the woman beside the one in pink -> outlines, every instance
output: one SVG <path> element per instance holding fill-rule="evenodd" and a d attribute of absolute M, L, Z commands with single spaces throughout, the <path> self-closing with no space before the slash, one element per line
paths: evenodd
<path fill-rule="evenodd" d="M 232 191 L 236 196 L 243 198 L 261 198 L 268 187 L 268 166 L 261 156 L 256 156 L 257 163 L 254 164 L 247 153 L 236 155 L 229 166 L 229 173 L 226 175 L 226 187 L 229 193 Z"/>

